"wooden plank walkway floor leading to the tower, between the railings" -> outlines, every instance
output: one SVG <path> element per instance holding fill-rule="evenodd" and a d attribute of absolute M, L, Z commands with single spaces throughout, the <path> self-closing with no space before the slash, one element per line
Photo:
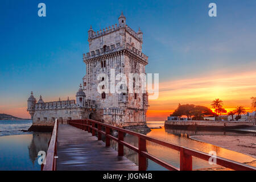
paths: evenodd
<path fill-rule="evenodd" d="M 138 166 L 91 133 L 71 125 L 59 125 L 57 134 L 57 171 L 137 171 Z"/>

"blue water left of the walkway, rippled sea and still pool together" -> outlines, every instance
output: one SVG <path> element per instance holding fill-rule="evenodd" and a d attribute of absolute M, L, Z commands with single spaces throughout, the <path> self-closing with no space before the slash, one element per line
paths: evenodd
<path fill-rule="evenodd" d="M 0 121 L 0 170 L 40 170 L 38 152 L 47 151 L 51 133 L 31 133 L 32 121 Z"/>

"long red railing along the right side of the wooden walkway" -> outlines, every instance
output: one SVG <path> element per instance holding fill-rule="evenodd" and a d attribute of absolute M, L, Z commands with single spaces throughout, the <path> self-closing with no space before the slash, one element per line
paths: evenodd
<path fill-rule="evenodd" d="M 192 156 L 195 156 L 196 158 L 200 158 L 203 160 L 209 160 L 209 158 L 211 157 L 204 152 L 193 150 L 187 147 L 177 146 L 176 144 L 168 143 L 163 140 L 155 139 L 152 137 L 147 137 L 146 135 L 135 133 L 134 131 L 125 130 L 120 127 L 115 127 L 102 122 L 94 121 L 92 119 L 70 120 L 68 121 L 68 123 L 69 125 L 75 126 L 79 129 L 91 132 L 93 136 L 95 135 L 95 132 L 97 132 L 98 140 L 101 140 L 101 135 L 104 134 L 106 137 L 106 147 L 110 147 L 110 139 L 115 140 L 116 142 L 118 142 L 118 156 L 123 156 L 123 146 L 126 146 L 131 150 L 136 151 L 139 155 L 139 171 L 146 170 L 147 168 L 146 159 L 150 159 L 155 163 L 158 163 L 160 166 L 163 166 L 169 170 L 192 171 Z M 96 124 L 97 124 L 97 127 L 96 127 Z M 105 127 L 105 131 L 102 130 L 102 127 Z M 118 138 L 113 137 L 110 134 L 110 129 L 118 131 Z M 125 133 L 138 137 L 139 147 L 135 147 L 129 143 L 124 142 L 123 135 Z M 146 147 L 147 147 L 146 140 L 180 151 L 180 168 L 176 168 L 171 164 L 156 158 L 156 156 L 149 154 L 146 151 Z M 234 170 L 239 170 L 239 171 L 247 171 L 247 170 L 255 171 L 256 170 L 256 168 L 253 166 L 248 166 L 246 164 L 238 163 L 233 160 L 221 158 L 218 156 L 216 157 L 216 163 L 220 166 L 224 166 L 224 167 L 234 169 Z"/>

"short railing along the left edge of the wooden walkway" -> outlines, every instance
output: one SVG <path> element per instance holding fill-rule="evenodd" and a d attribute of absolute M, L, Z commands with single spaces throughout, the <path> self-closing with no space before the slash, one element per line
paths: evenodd
<path fill-rule="evenodd" d="M 56 156 L 57 156 L 57 131 L 59 122 L 55 120 L 54 127 L 52 130 L 51 140 L 47 150 L 45 164 L 41 166 L 42 171 L 56 171 Z"/>

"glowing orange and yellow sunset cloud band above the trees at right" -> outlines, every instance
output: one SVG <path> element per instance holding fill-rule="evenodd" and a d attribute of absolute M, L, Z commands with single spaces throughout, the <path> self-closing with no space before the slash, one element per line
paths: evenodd
<path fill-rule="evenodd" d="M 244 72 L 162 82 L 159 98 L 149 101 L 147 120 L 165 120 L 179 103 L 210 107 L 215 98 L 224 101 L 228 111 L 238 105 L 250 111 L 250 97 L 256 94 L 255 80 L 256 72 Z"/>

